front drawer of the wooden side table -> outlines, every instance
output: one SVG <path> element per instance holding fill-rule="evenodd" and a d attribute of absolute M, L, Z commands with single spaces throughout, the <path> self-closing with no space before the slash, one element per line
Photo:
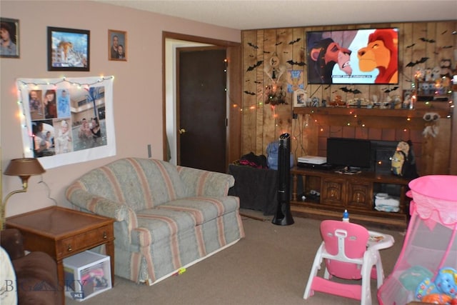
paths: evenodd
<path fill-rule="evenodd" d="M 56 245 L 58 256 L 66 256 L 67 254 L 80 251 L 81 249 L 104 244 L 108 240 L 114 239 L 113 226 L 101 226 L 84 233 L 71 236 L 67 239 L 62 239 Z"/>

